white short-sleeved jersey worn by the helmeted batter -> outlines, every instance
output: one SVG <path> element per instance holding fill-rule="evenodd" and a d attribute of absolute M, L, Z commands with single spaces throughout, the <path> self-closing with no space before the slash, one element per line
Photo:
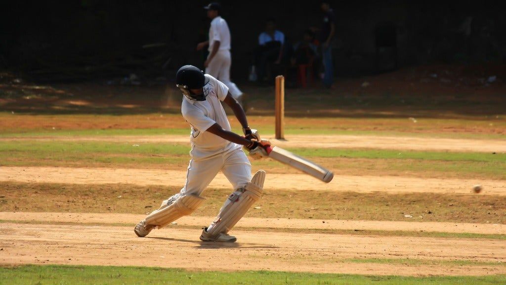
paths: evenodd
<path fill-rule="evenodd" d="M 234 142 L 223 139 L 206 130 L 218 123 L 224 130 L 230 131 L 230 123 L 220 101 L 225 100 L 228 87 L 216 78 L 206 74 L 209 82 L 204 86 L 208 94 L 204 101 L 190 100 L 183 96 L 181 114 L 191 125 L 191 151 L 193 159 L 199 160 L 214 156 L 233 148 L 241 148 Z"/>

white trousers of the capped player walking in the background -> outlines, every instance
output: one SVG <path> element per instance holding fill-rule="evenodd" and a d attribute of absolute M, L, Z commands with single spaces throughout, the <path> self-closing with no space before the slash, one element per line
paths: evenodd
<path fill-rule="evenodd" d="M 238 98 L 242 95 L 242 91 L 237 88 L 235 83 L 230 81 L 230 65 L 232 65 L 230 51 L 219 50 L 205 68 L 205 73 L 225 83 L 229 88 L 230 94 L 234 98 Z"/>

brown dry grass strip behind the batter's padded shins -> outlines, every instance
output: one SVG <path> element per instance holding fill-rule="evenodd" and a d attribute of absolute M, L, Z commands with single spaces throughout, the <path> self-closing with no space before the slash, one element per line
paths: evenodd
<path fill-rule="evenodd" d="M 0 182 L 0 211 L 145 214 L 179 187 Z M 207 189 L 195 216 L 214 217 L 230 189 Z M 121 196 L 118 198 L 118 196 Z M 506 224 L 506 196 L 267 191 L 248 217 Z M 411 215 L 413 218 L 405 218 Z"/>

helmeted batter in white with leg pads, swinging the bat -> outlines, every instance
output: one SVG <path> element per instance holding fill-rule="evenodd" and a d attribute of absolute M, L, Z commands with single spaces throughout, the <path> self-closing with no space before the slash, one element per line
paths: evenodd
<path fill-rule="evenodd" d="M 181 113 L 191 125 L 191 160 L 186 183 L 178 194 L 164 200 L 160 208 L 139 222 L 134 231 L 144 237 L 154 228 L 163 228 L 190 215 L 204 201 L 200 195 L 221 170 L 234 191 L 216 219 L 204 228 L 200 239 L 234 242 L 236 238 L 229 235 L 228 231 L 262 196 L 265 180 L 264 170 L 259 170 L 251 177 L 251 164 L 241 146 L 245 146 L 252 155 L 267 155 L 267 145 L 258 142 L 251 134 L 244 111 L 225 84 L 208 74 L 204 75 L 192 65 L 185 65 L 178 70 L 176 83 L 184 95 Z M 244 136 L 231 132 L 220 101 L 234 111 Z"/>

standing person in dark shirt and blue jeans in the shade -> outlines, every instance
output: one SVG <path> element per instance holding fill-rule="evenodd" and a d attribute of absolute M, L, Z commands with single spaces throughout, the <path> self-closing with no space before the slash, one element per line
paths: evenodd
<path fill-rule="evenodd" d="M 332 66 L 332 40 L 335 33 L 334 11 L 330 8 L 327 1 L 321 3 L 321 10 L 323 12 L 323 26 L 320 34 L 320 41 L 322 43 L 322 61 L 324 67 L 323 85 L 325 87 L 332 87 L 334 79 L 334 70 Z"/>

